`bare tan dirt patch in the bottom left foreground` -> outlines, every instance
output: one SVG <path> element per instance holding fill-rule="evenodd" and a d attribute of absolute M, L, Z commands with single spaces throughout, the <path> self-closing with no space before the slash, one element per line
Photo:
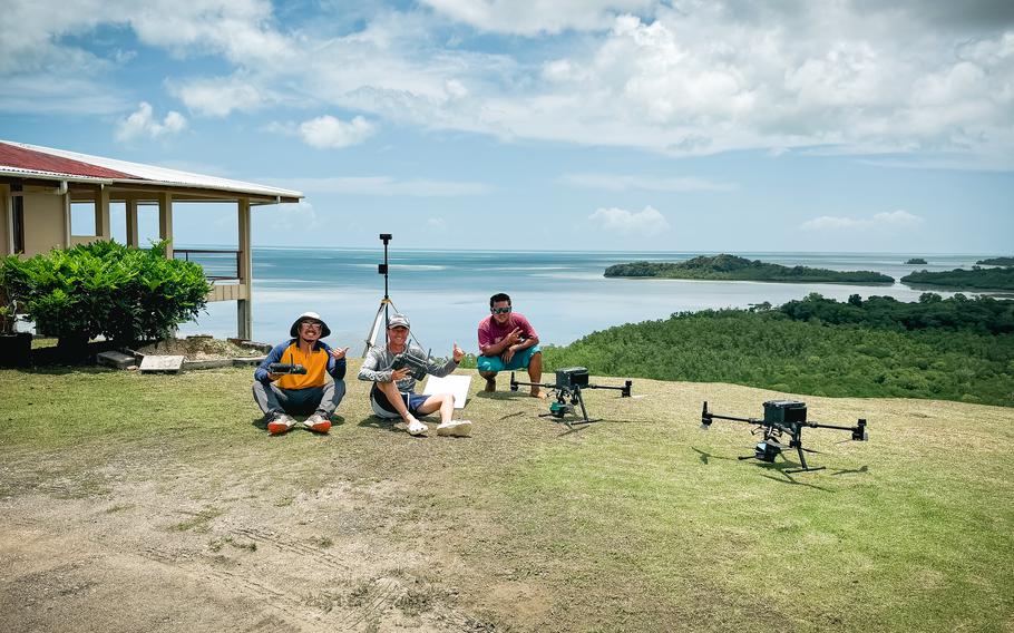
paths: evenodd
<path fill-rule="evenodd" d="M 299 474 L 177 457 L 76 475 L 101 479 L 99 495 L 53 503 L 40 483 L 0 498 L 0 631 L 494 630 L 462 612 L 445 528 L 400 503 L 401 484 L 300 489 Z"/>

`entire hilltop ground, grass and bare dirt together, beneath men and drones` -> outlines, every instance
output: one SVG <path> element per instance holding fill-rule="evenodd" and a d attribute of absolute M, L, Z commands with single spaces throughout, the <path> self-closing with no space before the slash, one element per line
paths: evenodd
<path fill-rule="evenodd" d="M 815 419 L 867 418 L 870 441 L 812 431 L 828 470 L 788 475 L 737 460 L 747 426 L 698 428 L 703 400 L 758 416 L 786 391 L 635 379 L 632 399 L 589 392 L 605 421 L 568 432 L 476 377 L 474 437 L 415 439 L 353 380 L 330 436 L 272 438 L 250 381 L 0 371 L 7 627 L 1001 632 L 1014 617 L 1014 409 L 806 396 Z"/>

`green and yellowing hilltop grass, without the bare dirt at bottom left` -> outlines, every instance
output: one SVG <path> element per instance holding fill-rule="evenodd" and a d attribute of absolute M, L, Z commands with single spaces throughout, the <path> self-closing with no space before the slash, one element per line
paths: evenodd
<path fill-rule="evenodd" d="M 335 499 L 426 578 L 398 610 L 454 595 L 495 631 L 1007 631 L 1014 617 L 1014 409 L 806 397 L 813 419 L 869 419 L 870 441 L 809 430 L 822 451 L 809 458 L 828 469 L 787 475 L 783 462 L 737 460 L 754 441 L 745 425 L 698 421 L 705 399 L 758 416 L 791 392 L 635 379 L 638 398 L 588 392 L 605 421 L 568 432 L 536 417 L 545 402 L 476 395 L 475 380 L 475 437 L 418 440 L 378 425 L 353 380 L 330 436 L 271 438 L 250 380 L 242 369 L 0 371 L 0 498 L 59 505 L 49 486 L 67 481 L 115 503 L 101 517 L 116 520 L 131 486 L 184 477 L 197 483 L 185 507 L 152 512 L 165 534 L 214 536 L 218 522 L 262 513 L 272 524 L 301 495 L 339 486 Z M 411 493 L 376 493 L 384 485 Z M 311 542 L 341 552 L 348 529 Z M 455 561 L 439 571 L 425 563 L 433 535 Z"/>

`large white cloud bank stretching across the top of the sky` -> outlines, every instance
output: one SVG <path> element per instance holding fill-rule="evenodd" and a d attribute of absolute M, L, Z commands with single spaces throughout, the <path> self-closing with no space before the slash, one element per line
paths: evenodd
<path fill-rule="evenodd" d="M 293 103 L 677 156 L 833 147 L 1014 167 L 1010 2 L 423 4 L 362 9 L 342 29 L 323 14 L 286 30 L 264 0 L 19 1 L 4 14 L 18 28 L 0 39 L 0 75 L 105 86 L 129 56 L 79 41 L 115 25 L 176 57 L 218 58 L 228 70 L 169 84 L 197 115 Z M 477 31 L 528 39 L 515 47 Z M 0 110 L 17 108 L 31 111 L 31 101 L 0 95 Z"/>

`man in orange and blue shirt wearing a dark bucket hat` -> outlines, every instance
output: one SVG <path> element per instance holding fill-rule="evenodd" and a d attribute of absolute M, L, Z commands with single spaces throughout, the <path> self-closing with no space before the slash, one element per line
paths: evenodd
<path fill-rule="evenodd" d="M 332 348 L 321 340 L 330 334 L 320 314 L 303 312 L 289 329 L 292 339 L 275 345 L 254 371 L 254 400 L 264 411 L 271 435 L 296 426 L 293 415 L 309 415 L 300 425 L 311 431 L 325 434 L 331 429 L 331 416 L 345 396 L 349 348 Z M 273 363 L 300 366 L 302 371 L 272 372 Z"/>

